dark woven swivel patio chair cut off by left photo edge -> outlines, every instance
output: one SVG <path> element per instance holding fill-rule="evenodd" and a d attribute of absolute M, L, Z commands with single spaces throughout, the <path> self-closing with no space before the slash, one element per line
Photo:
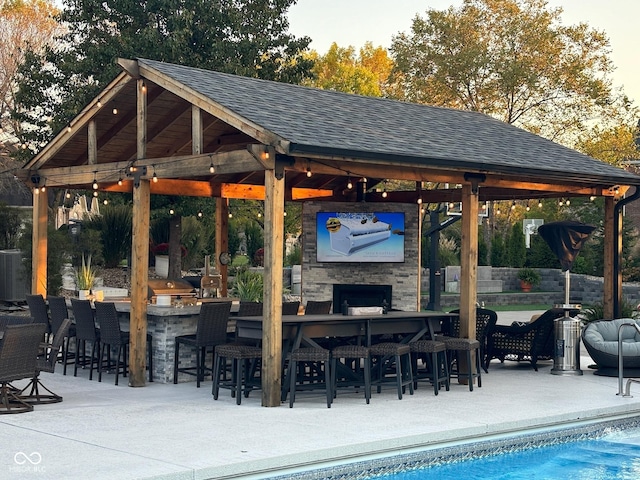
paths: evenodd
<path fill-rule="evenodd" d="M 0 414 L 33 411 L 33 405 L 22 400 L 11 382 L 32 378 L 40 342 L 47 329 L 43 323 L 7 325 L 0 342 Z"/>

